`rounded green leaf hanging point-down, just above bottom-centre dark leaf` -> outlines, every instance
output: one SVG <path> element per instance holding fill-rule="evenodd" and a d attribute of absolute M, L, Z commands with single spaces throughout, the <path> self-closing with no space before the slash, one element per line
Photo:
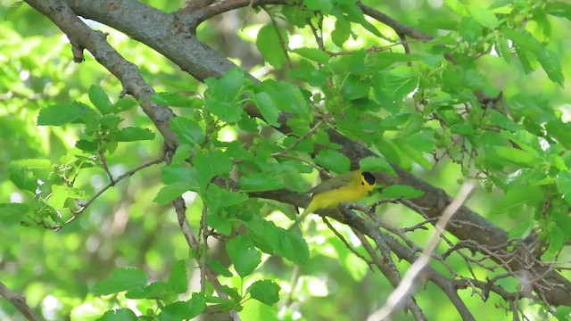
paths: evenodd
<path fill-rule="evenodd" d="M 252 243 L 252 240 L 239 235 L 226 243 L 228 257 L 232 260 L 238 276 L 249 276 L 261 263 L 261 252 Z"/>

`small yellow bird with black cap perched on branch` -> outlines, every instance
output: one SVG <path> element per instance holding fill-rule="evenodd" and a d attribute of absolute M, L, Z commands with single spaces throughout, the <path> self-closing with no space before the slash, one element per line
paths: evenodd
<path fill-rule="evenodd" d="M 310 203 L 290 227 L 299 224 L 308 214 L 326 208 L 335 208 L 340 202 L 357 202 L 367 196 L 377 183 L 373 174 L 368 171 L 353 170 L 338 177 L 329 178 L 311 188 Z"/>

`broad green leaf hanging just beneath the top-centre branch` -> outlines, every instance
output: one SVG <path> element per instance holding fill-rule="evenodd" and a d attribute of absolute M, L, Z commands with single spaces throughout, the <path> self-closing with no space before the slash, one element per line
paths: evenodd
<path fill-rule="evenodd" d="M 256 47 L 270 65 L 281 68 L 287 62 L 287 33 L 277 24 L 269 23 L 263 26 L 256 38 Z"/>

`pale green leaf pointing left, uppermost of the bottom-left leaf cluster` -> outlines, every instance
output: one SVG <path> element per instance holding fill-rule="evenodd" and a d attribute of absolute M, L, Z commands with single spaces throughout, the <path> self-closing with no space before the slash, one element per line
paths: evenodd
<path fill-rule="evenodd" d="M 109 278 L 97 282 L 92 292 L 95 295 L 106 295 L 128 291 L 145 285 L 146 279 L 146 272 L 138 268 L 116 268 Z"/>

